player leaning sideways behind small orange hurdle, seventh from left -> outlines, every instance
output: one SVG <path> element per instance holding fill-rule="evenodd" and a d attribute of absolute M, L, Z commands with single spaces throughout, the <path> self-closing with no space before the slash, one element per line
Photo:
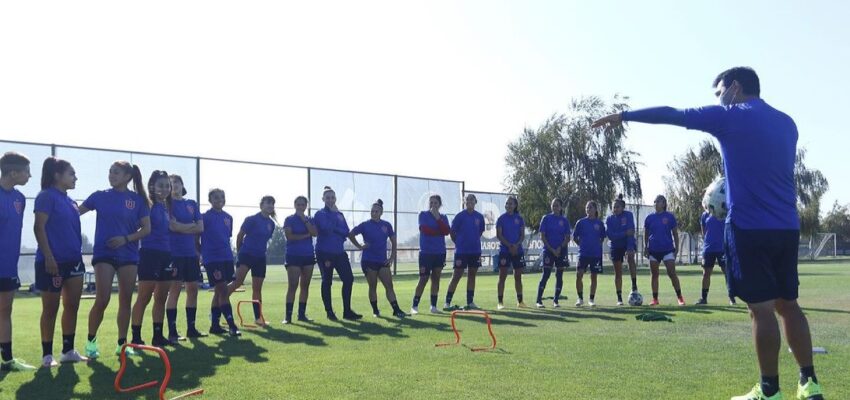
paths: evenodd
<path fill-rule="evenodd" d="M 274 204 L 274 197 L 263 196 L 260 199 L 260 212 L 242 222 L 242 227 L 236 235 L 239 268 L 236 269 L 236 279 L 227 287 L 233 294 L 245 282 L 248 271 L 251 271 L 251 300 L 259 302 L 252 303 L 254 323 L 258 326 L 269 325 L 260 313 L 260 304 L 263 303 L 263 281 L 266 279 L 266 250 L 277 228 Z"/>

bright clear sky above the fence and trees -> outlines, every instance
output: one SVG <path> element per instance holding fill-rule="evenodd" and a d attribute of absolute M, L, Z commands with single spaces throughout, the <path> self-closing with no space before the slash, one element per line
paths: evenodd
<path fill-rule="evenodd" d="M 506 144 L 615 93 L 698 106 L 748 65 L 850 202 L 847 2 L 0 3 L 0 138 L 464 180 Z M 634 125 L 645 201 L 707 135 Z M 154 166 L 151 166 L 154 167 Z M 273 184 L 270 182 L 269 184 Z"/>

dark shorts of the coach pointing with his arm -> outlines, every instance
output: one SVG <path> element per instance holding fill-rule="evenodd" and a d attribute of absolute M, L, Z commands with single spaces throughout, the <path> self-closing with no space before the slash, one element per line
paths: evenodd
<path fill-rule="evenodd" d="M 747 303 L 796 300 L 799 230 L 739 229 L 726 224 L 729 294 Z"/>

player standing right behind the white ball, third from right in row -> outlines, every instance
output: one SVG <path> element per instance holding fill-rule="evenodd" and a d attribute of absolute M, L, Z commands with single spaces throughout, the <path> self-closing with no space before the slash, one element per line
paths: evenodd
<path fill-rule="evenodd" d="M 626 211 L 623 195 L 618 195 L 611 205 L 612 213 L 605 220 L 606 232 L 614 264 L 614 286 L 617 305 L 623 305 L 623 261 L 628 257 L 632 277 L 632 293 L 637 292 L 637 263 L 635 262 L 635 217 Z"/>

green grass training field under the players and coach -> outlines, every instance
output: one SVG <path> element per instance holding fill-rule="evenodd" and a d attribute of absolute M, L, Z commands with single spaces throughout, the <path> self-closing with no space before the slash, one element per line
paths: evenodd
<path fill-rule="evenodd" d="M 606 266 L 606 268 L 610 268 Z M 803 264 L 801 304 L 813 330 L 815 346 L 829 354 L 816 355 L 818 376 L 827 398 L 850 398 L 850 264 Z M 680 267 L 688 303 L 699 293 L 699 268 Z M 318 276 L 318 273 L 316 273 Z M 524 278 L 526 302 L 534 300 L 539 274 Z M 283 326 L 282 271 L 273 269 L 265 287 L 264 308 L 272 327 L 243 330 L 239 339 L 210 337 L 169 349 L 174 376 L 167 396 L 204 388 L 199 399 L 728 399 L 742 394 L 756 382 L 758 371 L 750 338 L 750 322 L 743 306 L 730 307 L 719 272 L 707 307 L 677 307 L 672 287 L 662 275 L 661 300 L 657 310 L 673 318 L 668 322 L 640 322 L 635 314 L 648 307 L 613 306 L 613 277 L 603 275 L 595 309 L 577 309 L 573 274 L 566 280 L 569 296 L 565 308 L 556 310 L 491 311 L 498 349 L 473 353 L 465 347 L 435 348 L 437 342 L 453 339 L 447 314 L 427 311 L 413 318 L 373 318 L 362 322 L 330 322 L 322 312 L 319 281 L 311 286 L 308 314 L 310 324 Z M 585 280 L 589 285 L 589 278 Z M 442 296 L 448 279 L 443 280 Z M 641 270 L 639 284 L 649 295 L 649 276 Z M 399 276 L 396 290 L 405 310 L 409 308 L 414 276 Z M 514 299 L 509 278 L 506 299 Z M 358 277 L 354 306 L 367 314 L 365 281 Z M 550 280 L 547 295 L 554 289 Z M 335 283 L 335 304 L 341 311 L 340 285 Z M 588 291 L 586 289 L 586 291 Z M 461 283 L 457 301 L 465 298 Z M 250 290 L 236 293 L 232 302 L 248 299 Z M 380 306 L 390 314 L 379 288 Z M 209 304 L 204 292 L 200 304 Z M 496 277 L 478 281 L 476 302 L 495 310 Z M 34 373 L 0 373 L 2 399 L 141 399 L 156 398 L 154 389 L 118 395 L 113 380 L 118 358 L 109 354 L 116 337 L 113 298 L 99 333 L 104 355 L 88 365 L 64 365 Z M 427 305 L 427 297 L 423 305 Z M 513 301 L 507 301 L 511 306 Z M 546 302 L 547 305 L 551 301 Z M 82 350 L 91 300 L 80 307 L 77 349 Z M 182 302 L 181 302 L 182 305 Z M 422 307 L 426 309 L 426 307 Z M 250 315 L 250 307 L 245 311 Z M 16 357 L 39 364 L 41 347 L 38 298 L 19 295 L 14 305 Z M 205 311 L 199 312 L 205 315 Z M 199 326 L 207 329 L 199 315 Z M 181 332 L 185 315 L 180 311 Z M 144 337 L 150 340 L 149 314 Z M 486 344 L 485 325 L 478 318 L 458 322 L 464 342 Z M 56 334 L 55 350 L 61 348 Z M 159 379 L 162 367 L 154 355 L 134 361 L 126 385 Z M 781 384 L 785 398 L 795 394 L 797 368 L 787 348 L 781 354 Z"/>

